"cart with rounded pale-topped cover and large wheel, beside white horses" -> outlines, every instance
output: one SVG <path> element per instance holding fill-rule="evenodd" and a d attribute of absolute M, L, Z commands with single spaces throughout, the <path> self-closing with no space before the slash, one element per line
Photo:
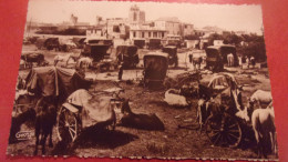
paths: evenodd
<path fill-rule="evenodd" d="M 236 117 L 243 109 L 240 87 L 229 73 L 216 74 L 207 89 L 212 90 L 207 111 L 200 112 L 205 123 L 205 132 L 215 146 L 237 146 L 244 134 L 247 123 Z"/>

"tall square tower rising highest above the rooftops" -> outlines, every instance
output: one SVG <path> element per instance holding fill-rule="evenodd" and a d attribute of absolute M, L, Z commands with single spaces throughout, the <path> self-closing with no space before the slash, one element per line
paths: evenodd
<path fill-rule="evenodd" d="M 145 22 L 145 12 L 135 4 L 130 8 L 128 22 L 131 26 L 140 26 Z"/>

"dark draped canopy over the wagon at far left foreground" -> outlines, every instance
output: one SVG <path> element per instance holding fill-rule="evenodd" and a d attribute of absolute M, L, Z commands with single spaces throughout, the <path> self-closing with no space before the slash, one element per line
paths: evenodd
<path fill-rule="evenodd" d="M 91 85 L 75 70 L 59 67 L 33 68 L 25 81 L 29 92 L 42 97 L 60 97 L 62 101 L 75 90 Z"/>

